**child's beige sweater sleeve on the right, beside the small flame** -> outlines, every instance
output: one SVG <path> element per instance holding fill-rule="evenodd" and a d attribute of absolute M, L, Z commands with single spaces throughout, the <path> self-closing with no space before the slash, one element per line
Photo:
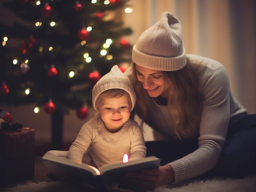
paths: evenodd
<path fill-rule="evenodd" d="M 143 137 L 143 133 L 139 125 L 134 122 L 132 127 L 130 160 L 141 159 L 146 156 L 146 145 Z"/>

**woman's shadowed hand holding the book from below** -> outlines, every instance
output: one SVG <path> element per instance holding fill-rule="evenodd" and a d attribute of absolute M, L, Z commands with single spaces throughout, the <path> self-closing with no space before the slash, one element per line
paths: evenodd
<path fill-rule="evenodd" d="M 159 185 L 171 183 L 174 181 L 173 169 L 169 165 L 159 166 L 141 170 L 141 172 L 128 172 L 121 179 L 121 187 L 138 190 L 154 190 Z"/>

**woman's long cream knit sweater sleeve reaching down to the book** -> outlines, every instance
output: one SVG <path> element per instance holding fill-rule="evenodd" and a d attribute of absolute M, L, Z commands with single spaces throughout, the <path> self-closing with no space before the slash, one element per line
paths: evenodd
<path fill-rule="evenodd" d="M 199 148 L 182 159 L 168 163 L 173 168 L 175 183 L 197 177 L 214 168 L 225 144 L 229 124 L 229 79 L 223 66 L 205 74 L 200 121 Z"/>

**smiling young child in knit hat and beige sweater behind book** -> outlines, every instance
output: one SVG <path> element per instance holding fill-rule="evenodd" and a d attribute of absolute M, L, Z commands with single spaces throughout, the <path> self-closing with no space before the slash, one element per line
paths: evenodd
<path fill-rule="evenodd" d="M 117 65 L 113 66 L 92 89 L 92 104 L 99 116 L 82 126 L 68 152 L 49 151 L 46 154 L 96 168 L 121 162 L 124 154 L 128 154 L 129 161 L 145 157 L 146 146 L 141 128 L 129 119 L 135 101 L 130 80 Z"/>

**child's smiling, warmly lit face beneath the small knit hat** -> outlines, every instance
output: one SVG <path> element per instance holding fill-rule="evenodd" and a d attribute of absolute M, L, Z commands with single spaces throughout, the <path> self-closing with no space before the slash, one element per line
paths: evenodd
<path fill-rule="evenodd" d="M 117 132 L 130 118 L 129 96 L 124 94 L 121 97 L 102 98 L 98 105 L 98 111 L 106 128 L 110 132 Z"/>

